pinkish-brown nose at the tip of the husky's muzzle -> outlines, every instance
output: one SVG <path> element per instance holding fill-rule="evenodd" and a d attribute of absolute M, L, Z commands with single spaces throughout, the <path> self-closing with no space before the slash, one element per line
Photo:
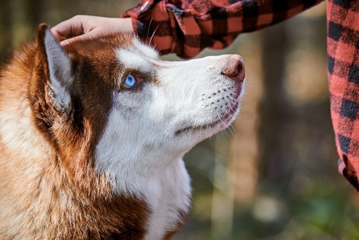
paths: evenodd
<path fill-rule="evenodd" d="M 243 58 L 237 54 L 226 57 L 223 60 L 221 73 L 234 81 L 243 82 L 245 78 Z"/>

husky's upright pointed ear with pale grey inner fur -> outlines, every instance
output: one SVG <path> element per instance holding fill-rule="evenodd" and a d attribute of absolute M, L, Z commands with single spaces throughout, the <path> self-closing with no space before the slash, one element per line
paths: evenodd
<path fill-rule="evenodd" d="M 45 98 L 58 112 L 68 112 L 71 108 L 70 89 L 74 82 L 71 59 L 46 24 L 38 26 L 37 44 L 38 63 L 42 65 L 42 77 L 46 79 Z"/>

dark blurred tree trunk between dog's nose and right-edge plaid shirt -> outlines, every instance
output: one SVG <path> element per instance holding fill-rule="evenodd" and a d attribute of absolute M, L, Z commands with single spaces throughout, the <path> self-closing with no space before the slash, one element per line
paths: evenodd
<path fill-rule="evenodd" d="M 275 188 L 286 183 L 291 135 L 287 131 L 291 108 L 284 88 L 288 41 L 285 24 L 262 32 L 263 96 L 259 105 L 260 180 Z M 271 188 L 271 186 L 264 186 Z"/>

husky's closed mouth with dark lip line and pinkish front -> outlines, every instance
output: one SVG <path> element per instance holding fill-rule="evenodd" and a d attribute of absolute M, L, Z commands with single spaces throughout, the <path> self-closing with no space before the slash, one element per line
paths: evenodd
<path fill-rule="evenodd" d="M 188 132 L 194 133 L 194 132 L 202 132 L 202 131 L 211 132 L 212 134 L 214 134 L 216 132 L 224 130 L 224 128 L 228 127 L 231 124 L 231 122 L 235 119 L 235 115 L 237 113 L 239 104 L 240 104 L 240 100 L 238 97 L 238 99 L 235 101 L 234 104 L 232 104 L 229 107 L 229 109 L 224 108 L 225 111 L 222 112 L 221 115 L 217 112 L 217 119 L 215 119 L 213 122 L 203 125 L 186 126 L 177 130 L 174 133 L 174 135 L 181 136 Z"/>

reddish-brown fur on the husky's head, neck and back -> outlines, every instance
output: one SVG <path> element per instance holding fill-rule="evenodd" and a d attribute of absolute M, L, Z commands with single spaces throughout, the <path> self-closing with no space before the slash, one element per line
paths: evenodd
<path fill-rule="evenodd" d="M 37 43 L 16 51 L 1 72 L 0 113 L 12 104 L 23 118 L 31 117 L 31 131 L 37 135 L 27 144 L 41 149 L 43 157 L 29 162 L 8 149 L 0 135 L 0 161 L 7 161 L 0 174 L 0 195 L 11 205 L 1 206 L 6 212 L 0 215 L 0 238 L 141 239 L 149 214 L 146 204 L 114 195 L 107 176 L 94 171 L 94 149 L 111 107 L 112 76 L 121 70 L 109 61 L 115 59 L 114 52 L 100 41 L 66 48 L 80 73 L 71 91 L 70 112 L 59 113 L 47 91 L 46 28 L 41 25 Z M 107 44 L 131 43 L 129 37 L 117 38 L 122 39 Z"/>

